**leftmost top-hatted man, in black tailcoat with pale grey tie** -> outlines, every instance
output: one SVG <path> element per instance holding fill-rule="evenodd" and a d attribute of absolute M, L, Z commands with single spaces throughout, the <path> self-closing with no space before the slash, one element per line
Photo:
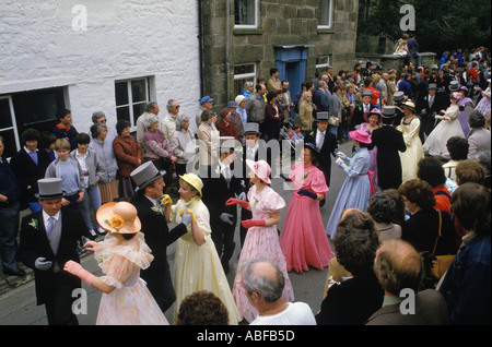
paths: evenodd
<path fill-rule="evenodd" d="M 77 242 L 90 238 L 89 229 L 79 211 L 61 210 L 61 179 L 38 181 L 36 196 L 43 211 L 22 219 L 19 260 L 34 270 L 37 304 L 45 304 L 49 325 L 77 325 L 72 312 L 73 290 L 81 280 L 63 271 L 71 260 L 80 262 Z"/>

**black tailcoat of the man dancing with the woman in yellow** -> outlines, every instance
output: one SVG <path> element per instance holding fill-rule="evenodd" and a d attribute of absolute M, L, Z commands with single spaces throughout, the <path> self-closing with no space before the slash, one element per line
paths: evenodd
<path fill-rule="evenodd" d="M 168 270 L 167 246 L 186 234 L 186 226 L 181 223 L 169 231 L 164 214 L 152 210 L 155 206 L 142 191 L 136 193 L 130 203 L 137 208 L 137 214 L 142 224 L 141 231 L 154 256 L 151 265 L 141 272 L 141 277 L 147 282 L 157 280 L 163 277 L 163 272 Z"/>

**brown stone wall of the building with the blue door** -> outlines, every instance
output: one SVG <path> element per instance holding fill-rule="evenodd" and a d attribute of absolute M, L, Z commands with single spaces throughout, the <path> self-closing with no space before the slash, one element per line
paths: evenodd
<path fill-rule="evenodd" d="M 236 95 L 234 65 L 255 62 L 257 76 L 268 80 L 270 69 L 276 67 L 279 46 L 307 49 L 305 80 L 314 76 L 319 57 L 330 56 L 335 72 L 353 68 L 358 0 L 332 0 L 331 28 L 318 27 L 319 0 L 260 0 L 259 3 L 259 27 L 238 29 L 234 27 L 234 1 L 230 1 L 229 19 L 227 1 L 201 1 L 203 94 L 215 98 L 218 109 Z"/>

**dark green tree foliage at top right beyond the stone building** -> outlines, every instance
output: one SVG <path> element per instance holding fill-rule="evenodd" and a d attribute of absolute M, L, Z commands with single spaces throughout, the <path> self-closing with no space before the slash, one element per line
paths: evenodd
<path fill-rule="evenodd" d="M 394 41 L 401 37 L 399 26 L 405 14 L 400 7 L 415 9 L 415 35 L 420 51 L 453 50 L 457 48 L 490 47 L 490 0 L 360 0 L 359 33 L 388 36 Z"/>

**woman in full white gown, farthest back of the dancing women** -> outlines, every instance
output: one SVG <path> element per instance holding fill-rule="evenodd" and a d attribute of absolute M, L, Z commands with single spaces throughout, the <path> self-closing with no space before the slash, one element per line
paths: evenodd
<path fill-rule="evenodd" d="M 441 122 L 429 134 L 427 140 L 423 144 L 423 149 L 432 156 L 442 156 L 449 159 L 449 152 L 447 151 L 447 140 L 453 136 L 464 137 L 461 125 L 459 123 L 459 94 L 450 94 L 450 106 L 446 111 L 442 110 L 441 115 L 435 116 L 436 119 L 441 119 Z"/>

